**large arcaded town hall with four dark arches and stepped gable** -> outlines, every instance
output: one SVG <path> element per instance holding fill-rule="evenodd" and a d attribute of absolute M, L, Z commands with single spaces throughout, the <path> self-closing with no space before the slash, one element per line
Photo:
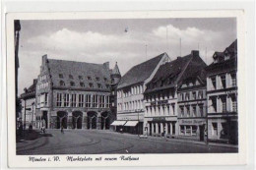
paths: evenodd
<path fill-rule="evenodd" d="M 42 56 L 35 94 L 39 126 L 109 129 L 115 117 L 110 103 L 112 72 L 108 62 L 92 64 Z"/>

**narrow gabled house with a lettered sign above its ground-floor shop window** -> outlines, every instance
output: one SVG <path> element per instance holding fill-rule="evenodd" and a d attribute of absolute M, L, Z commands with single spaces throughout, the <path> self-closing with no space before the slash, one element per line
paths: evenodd
<path fill-rule="evenodd" d="M 193 71 L 189 72 L 187 78 L 183 79 L 177 90 L 178 136 L 181 139 L 205 141 L 207 98 L 204 68 L 207 65 L 203 61 L 197 64 L 197 66 L 191 65 L 194 68 Z"/>

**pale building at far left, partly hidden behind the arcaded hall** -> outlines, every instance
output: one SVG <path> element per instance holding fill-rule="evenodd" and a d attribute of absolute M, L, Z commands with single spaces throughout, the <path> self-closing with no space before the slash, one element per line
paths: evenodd
<path fill-rule="evenodd" d="M 35 127 L 35 86 L 37 80 L 34 79 L 32 85 L 29 88 L 24 89 L 24 93 L 21 94 L 22 101 L 22 115 L 20 122 L 24 128 L 29 126 Z"/>

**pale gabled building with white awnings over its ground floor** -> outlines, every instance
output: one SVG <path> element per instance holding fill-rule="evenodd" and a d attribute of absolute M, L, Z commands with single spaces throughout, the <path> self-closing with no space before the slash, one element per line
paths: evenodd
<path fill-rule="evenodd" d="M 134 66 L 122 77 L 117 87 L 117 121 L 112 124 L 116 131 L 143 134 L 145 115 L 143 93 L 160 66 L 169 61 L 168 55 L 162 53 Z"/>

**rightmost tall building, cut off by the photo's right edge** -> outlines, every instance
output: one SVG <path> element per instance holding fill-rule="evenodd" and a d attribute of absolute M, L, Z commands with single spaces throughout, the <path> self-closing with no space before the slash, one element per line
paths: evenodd
<path fill-rule="evenodd" d="M 213 58 L 206 68 L 208 139 L 237 143 L 237 40 Z"/>

